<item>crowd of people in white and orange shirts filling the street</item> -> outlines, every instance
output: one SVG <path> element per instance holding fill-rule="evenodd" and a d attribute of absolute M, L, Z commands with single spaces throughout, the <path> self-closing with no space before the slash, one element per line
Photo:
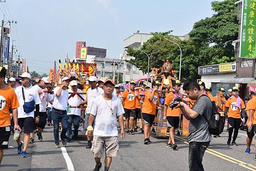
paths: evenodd
<path fill-rule="evenodd" d="M 163 121 L 167 122 L 169 127 L 167 148 L 178 148 L 175 143 L 175 130 L 180 128 L 182 118 L 185 117 L 190 122 L 190 171 L 204 170 L 204 151 L 212 139 L 207 122 L 212 118 L 212 101 L 216 102 L 220 116 L 227 118 L 228 145 L 237 146 L 239 128 L 243 124 L 247 125 L 245 153 L 249 154 L 256 133 L 255 93 L 250 92 L 250 97 L 243 101 L 236 86 L 228 90 L 225 96 L 224 88 L 219 87 L 219 94 L 213 97 L 212 88 L 202 81 L 188 80 L 182 85 L 180 80 L 174 80 L 170 90 L 159 91 L 159 81 L 153 81 L 151 85 L 141 81 L 136 87 L 136 82 L 132 80 L 128 88 L 121 91 L 119 85 L 115 85 L 111 79 L 98 80 L 96 76 L 90 76 L 87 79 L 90 88 L 84 96 L 83 91 L 78 88 L 76 78 L 62 78 L 61 86 L 55 87 L 53 93 L 50 93 L 47 87 L 54 86 L 54 83 L 49 83 L 46 77 L 34 85 L 31 84 L 31 75 L 27 72 L 18 76 L 21 78 L 19 85 L 15 84 L 15 78 L 9 78 L 9 85 L 6 84 L 5 77 L 6 69 L 0 67 L 0 163 L 3 159 L 3 149 L 8 148 L 9 137 L 15 130 L 24 133 L 23 141 L 20 136 L 17 138 L 17 154 L 24 158 L 27 157 L 29 143 L 34 142 L 34 133 L 39 141 L 43 140 L 42 134 L 46 124 L 53 126 L 54 148 L 60 147 L 60 141 L 66 146 L 67 142 L 77 139 L 81 107 L 85 107 L 85 104 L 86 148 L 91 149 L 96 162 L 93 171 L 99 171 L 102 167 L 104 149 L 104 169 L 108 171 L 110 168 L 112 157 L 116 157 L 119 150 L 118 129 L 122 139 L 125 138 L 126 129 L 128 135 L 144 133 L 143 143 L 151 144 L 150 135 L 151 131 L 154 131 L 152 125 L 160 108 L 163 108 Z M 215 138 L 219 136 L 213 135 Z"/>

